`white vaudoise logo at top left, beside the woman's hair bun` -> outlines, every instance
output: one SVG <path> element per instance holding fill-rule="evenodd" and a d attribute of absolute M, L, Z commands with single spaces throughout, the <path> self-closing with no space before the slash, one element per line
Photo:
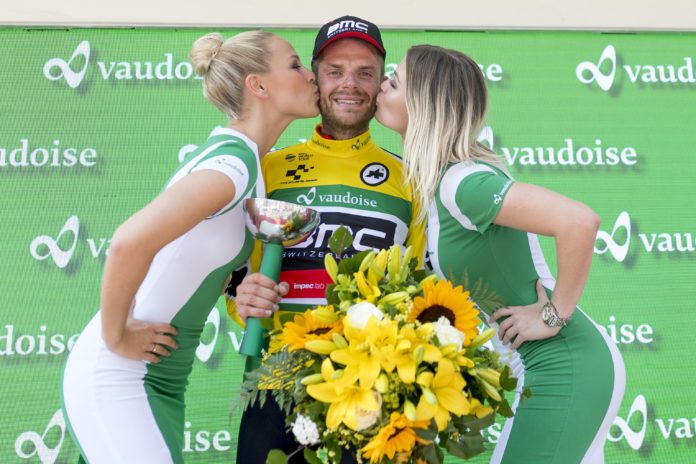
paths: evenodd
<path fill-rule="evenodd" d="M 73 50 L 70 58 L 49 58 L 43 67 L 43 74 L 50 81 L 64 80 L 71 89 L 84 87 L 90 68 L 97 69 L 97 78 L 116 81 L 185 81 L 200 79 L 195 75 L 193 66 L 188 61 L 174 61 L 174 54 L 163 53 L 155 60 L 127 61 L 113 58 L 93 61 L 94 49 L 89 40 L 81 41 Z M 60 53 L 60 52 L 57 52 Z M 101 52 L 100 56 L 108 56 Z"/>

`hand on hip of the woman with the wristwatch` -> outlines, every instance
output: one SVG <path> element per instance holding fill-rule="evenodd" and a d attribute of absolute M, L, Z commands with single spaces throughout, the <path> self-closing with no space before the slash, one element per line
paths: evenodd
<path fill-rule="evenodd" d="M 560 327 L 549 327 L 541 319 L 541 308 L 548 301 L 548 297 L 539 280 L 536 283 L 536 290 L 538 296 L 536 303 L 528 306 L 500 308 L 493 313 L 489 321 L 493 323 L 507 316 L 507 319 L 500 323 L 498 337 L 504 344 L 512 341 L 512 348 L 515 350 L 526 341 L 550 338 L 561 330 Z"/>

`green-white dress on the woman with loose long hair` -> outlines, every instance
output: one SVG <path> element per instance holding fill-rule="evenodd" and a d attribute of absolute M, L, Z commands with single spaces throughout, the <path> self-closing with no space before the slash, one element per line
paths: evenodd
<path fill-rule="evenodd" d="M 555 280 L 535 234 L 493 221 L 513 180 L 484 163 L 447 167 L 428 214 L 428 254 L 443 277 L 482 279 L 505 306 L 537 301 L 541 279 L 549 296 Z M 491 462 L 601 463 L 604 441 L 625 387 L 625 369 L 606 331 L 577 308 L 568 326 L 546 340 L 523 343 L 512 360 L 518 397 Z"/>

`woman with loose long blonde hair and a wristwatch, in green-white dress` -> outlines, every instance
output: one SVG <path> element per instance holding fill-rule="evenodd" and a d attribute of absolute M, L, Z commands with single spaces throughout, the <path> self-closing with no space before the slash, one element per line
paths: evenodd
<path fill-rule="evenodd" d="M 599 218 L 587 206 L 515 182 L 476 140 L 487 106 L 478 65 L 455 50 L 409 49 L 382 84 L 377 120 L 404 138 L 407 177 L 429 204 L 428 254 L 441 276 L 483 279 L 505 307 L 490 318 L 516 351 L 519 386 L 495 463 L 601 463 L 623 396 L 621 355 L 576 307 Z M 558 280 L 536 234 L 556 241 Z M 572 317 L 571 317 L 572 316 Z"/>

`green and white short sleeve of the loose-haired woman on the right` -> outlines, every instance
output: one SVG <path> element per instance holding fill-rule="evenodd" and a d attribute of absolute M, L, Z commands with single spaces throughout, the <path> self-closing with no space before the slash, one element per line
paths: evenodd
<path fill-rule="evenodd" d="M 440 199 L 463 227 L 483 234 L 493 224 L 512 183 L 491 167 L 461 164 L 443 177 Z"/>

